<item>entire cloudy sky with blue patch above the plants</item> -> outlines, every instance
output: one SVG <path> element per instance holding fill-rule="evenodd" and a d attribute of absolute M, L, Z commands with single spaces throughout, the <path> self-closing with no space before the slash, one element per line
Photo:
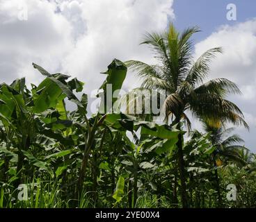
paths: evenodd
<path fill-rule="evenodd" d="M 237 9 L 234 20 L 227 19 L 230 3 Z M 200 27 L 194 36 L 195 58 L 223 47 L 209 77 L 239 85 L 243 94 L 230 99 L 243 111 L 250 132 L 236 131 L 256 152 L 255 0 L 0 0 L 0 80 L 11 83 L 25 76 L 27 85 L 40 83 L 43 77 L 31 65 L 35 62 L 51 73 L 79 78 L 90 96 L 113 58 L 154 62 L 139 43 L 145 32 L 164 31 L 170 22 L 180 31 Z M 139 83 L 129 72 L 124 88 Z"/>

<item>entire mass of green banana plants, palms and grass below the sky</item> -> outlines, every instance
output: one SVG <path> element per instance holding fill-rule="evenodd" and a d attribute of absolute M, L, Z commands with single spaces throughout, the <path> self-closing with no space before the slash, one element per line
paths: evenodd
<path fill-rule="evenodd" d="M 239 89 L 224 79 L 198 87 L 221 49 L 193 63 L 189 39 L 197 31 L 170 26 L 148 34 L 143 44 L 161 65 L 127 62 L 144 78 L 142 87 L 167 90 L 171 123 L 155 123 L 153 114 L 110 113 L 107 105 L 118 99 L 107 103 L 106 85 L 119 90 L 127 75 L 119 60 L 105 73 L 104 112 L 95 114 L 88 114 L 86 94 L 77 97 L 81 81 L 35 64 L 45 76 L 38 86 L 29 89 L 24 78 L 1 84 L 0 207 L 184 207 L 184 197 L 187 207 L 255 207 L 255 155 L 225 128 L 227 122 L 247 126 L 224 99 Z M 77 109 L 68 111 L 65 99 Z M 191 124 L 186 110 L 207 123 L 205 133 L 184 131 L 183 123 Z M 229 184 L 237 186 L 237 202 L 225 198 Z M 18 198 L 19 185 L 28 187 L 28 200 Z"/>

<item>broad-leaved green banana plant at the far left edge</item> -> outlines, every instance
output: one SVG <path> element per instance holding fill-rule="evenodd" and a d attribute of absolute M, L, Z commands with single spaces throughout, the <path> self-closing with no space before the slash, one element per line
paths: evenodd
<path fill-rule="evenodd" d="M 79 92 L 83 83 L 76 78 L 67 82 L 66 80 L 70 76 L 63 74 L 51 75 L 38 65 L 33 64 L 33 67 L 38 69 L 42 75 L 47 76 L 38 87 L 32 85 L 32 89 L 29 90 L 24 78 L 17 79 L 10 85 L 6 83 L 0 85 L 2 130 L 3 134 L 6 135 L 7 149 L 12 148 L 17 153 L 16 172 L 17 175 L 19 174 L 18 178 L 21 178 L 24 158 L 31 157 L 31 153 L 28 153 L 30 152 L 29 149 L 38 142 L 37 135 L 42 133 L 40 134 L 42 136 L 43 133 L 46 133 L 46 138 L 54 135 L 51 130 L 44 126 L 44 120 L 47 119 L 43 118 L 44 112 L 51 110 L 53 114 L 56 110 L 56 114 L 58 114 L 56 121 L 60 119 L 64 121 L 67 118 L 65 98 L 70 99 L 79 107 L 83 106 L 72 92 L 73 89 Z M 42 127 L 44 127 L 44 130 L 41 130 Z M 8 164 L 7 158 L 5 164 Z M 17 183 L 19 182 L 17 180 Z"/>

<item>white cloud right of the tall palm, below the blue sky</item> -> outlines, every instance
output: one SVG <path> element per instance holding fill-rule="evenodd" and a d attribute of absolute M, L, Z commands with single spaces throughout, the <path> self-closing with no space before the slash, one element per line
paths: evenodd
<path fill-rule="evenodd" d="M 235 26 L 221 26 L 207 39 L 195 45 L 198 57 L 211 47 L 222 46 L 223 55 L 211 66 L 211 77 L 224 77 L 240 86 L 254 85 L 256 80 L 256 19 Z"/>

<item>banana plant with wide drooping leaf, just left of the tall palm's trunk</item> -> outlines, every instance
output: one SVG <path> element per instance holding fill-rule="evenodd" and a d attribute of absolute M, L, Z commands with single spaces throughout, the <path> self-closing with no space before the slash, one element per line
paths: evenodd
<path fill-rule="evenodd" d="M 141 184 L 141 181 L 138 182 L 138 174 L 141 178 L 149 169 L 156 169 L 155 158 L 163 153 L 172 153 L 182 132 L 175 127 L 140 121 L 123 113 L 108 114 L 104 121 L 109 127 L 122 132 L 122 139 L 126 145 L 123 148 L 125 153 L 120 155 L 120 163 L 129 175 L 128 203 L 129 207 L 134 207 L 138 198 L 138 183 Z M 131 137 L 127 137 L 127 132 L 131 133 Z M 120 195 L 115 193 L 113 197 L 116 196 L 116 200 L 120 201 Z"/>

